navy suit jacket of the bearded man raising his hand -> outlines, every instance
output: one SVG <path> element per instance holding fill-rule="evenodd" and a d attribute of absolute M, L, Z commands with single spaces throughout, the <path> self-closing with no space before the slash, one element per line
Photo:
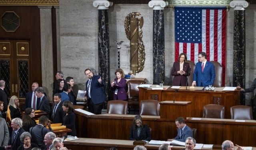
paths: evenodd
<path fill-rule="evenodd" d="M 100 76 L 96 76 L 96 75 L 94 75 L 92 77 L 90 95 L 91 95 L 91 100 L 92 100 L 93 104 L 100 104 L 100 103 L 102 103 L 106 100 L 106 95 L 105 95 L 105 92 L 103 90 L 103 87 L 106 86 L 106 83 L 101 78 L 102 80 L 101 80 L 101 84 L 100 84 L 100 82 L 98 82 L 99 78 L 100 78 Z M 88 82 L 89 82 L 89 80 L 85 84 L 86 85 L 86 91 L 88 91 L 88 87 L 87 87 Z M 87 98 L 89 98 L 88 92 L 86 92 L 86 96 L 87 96 Z"/>

